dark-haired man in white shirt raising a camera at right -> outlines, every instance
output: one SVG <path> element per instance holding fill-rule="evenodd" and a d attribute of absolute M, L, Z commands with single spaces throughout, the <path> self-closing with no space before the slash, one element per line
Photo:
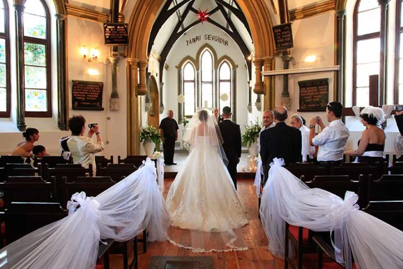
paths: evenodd
<path fill-rule="evenodd" d="M 343 152 L 347 139 L 350 136 L 349 129 L 340 119 L 343 113 L 343 105 L 340 102 L 329 102 L 326 105 L 326 118 L 330 123 L 325 127 L 322 119 L 312 117 L 309 125 L 309 142 L 311 146 L 319 146 L 317 160 L 323 162 L 343 162 Z M 315 126 L 318 124 L 322 132 L 315 136 Z"/>

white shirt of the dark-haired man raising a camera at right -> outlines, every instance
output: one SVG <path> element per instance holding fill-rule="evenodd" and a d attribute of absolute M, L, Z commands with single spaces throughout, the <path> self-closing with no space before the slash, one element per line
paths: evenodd
<path fill-rule="evenodd" d="M 349 129 L 342 120 L 332 121 L 329 126 L 323 128 L 322 132 L 312 139 L 312 144 L 319 146 L 318 161 L 343 159 L 343 151 L 349 136 Z"/>

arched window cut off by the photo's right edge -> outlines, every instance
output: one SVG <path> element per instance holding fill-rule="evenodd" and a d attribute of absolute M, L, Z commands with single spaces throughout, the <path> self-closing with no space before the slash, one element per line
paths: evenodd
<path fill-rule="evenodd" d="M 394 62 L 394 103 L 403 103 L 403 0 L 396 3 L 396 47 Z M 401 92 L 399 94 L 399 92 Z"/>

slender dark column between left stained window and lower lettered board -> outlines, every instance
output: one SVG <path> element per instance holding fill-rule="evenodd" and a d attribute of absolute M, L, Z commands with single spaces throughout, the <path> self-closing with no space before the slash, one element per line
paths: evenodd
<path fill-rule="evenodd" d="M 66 102 L 66 50 L 65 50 L 65 15 L 56 14 L 56 36 L 57 36 L 57 127 L 67 130 L 67 102 Z"/>

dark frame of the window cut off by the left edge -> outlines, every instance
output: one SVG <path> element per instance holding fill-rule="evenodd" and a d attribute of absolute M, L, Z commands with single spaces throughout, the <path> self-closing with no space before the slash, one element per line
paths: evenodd
<path fill-rule="evenodd" d="M 6 111 L 0 112 L 0 118 L 10 118 L 11 111 L 11 69 L 10 69 L 10 17 L 9 17 L 9 5 L 7 0 L 3 1 L 4 5 L 4 33 L 0 33 L 0 37 L 5 39 L 6 43 Z"/>

